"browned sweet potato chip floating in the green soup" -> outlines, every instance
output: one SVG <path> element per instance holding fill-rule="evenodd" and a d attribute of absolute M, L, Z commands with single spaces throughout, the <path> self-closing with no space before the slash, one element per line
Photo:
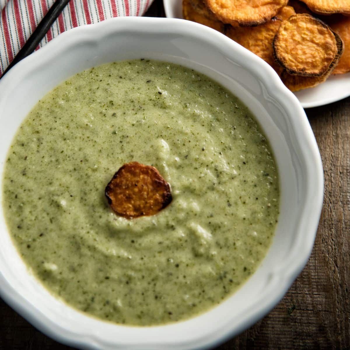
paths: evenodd
<path fill-rule="evenodd" d="M 157 214 L 172 201 L 170 185 L 158 170 L 138 162 L 120 167 L 105 195 L 113 211 L 128 219 Z"/>

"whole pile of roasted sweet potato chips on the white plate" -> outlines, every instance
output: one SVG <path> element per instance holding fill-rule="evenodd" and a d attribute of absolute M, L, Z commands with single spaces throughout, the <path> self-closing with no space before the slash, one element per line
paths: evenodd
<path fill-rule="evenodd" d="M 291 91 L 350 72 L 350 0 L 182 0 L 182 11 L 264 59 Z"/>

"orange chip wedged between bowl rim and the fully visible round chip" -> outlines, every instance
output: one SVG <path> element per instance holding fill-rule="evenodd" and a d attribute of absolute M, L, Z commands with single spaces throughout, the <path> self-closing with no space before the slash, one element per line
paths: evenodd
<path fill-rule="evenodd" d="M 252 51 L 255 55 L 261 57 L 274 68 L 277 73 L 282 72 L 282 67 L 275 62 L 273 57 L 272 41 L 276 31 L 282 21 L 295 15 L 292 7 L 283 7 L 278 14 L 269 22 L 257 27 L 227 27 L 225 34 L 236 41 L 246 49 Z"/>

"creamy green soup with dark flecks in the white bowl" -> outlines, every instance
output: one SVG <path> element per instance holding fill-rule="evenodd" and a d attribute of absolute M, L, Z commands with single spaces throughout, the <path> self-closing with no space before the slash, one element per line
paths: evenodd
<path fill-rule="evenodd" d="M 172 201 L 114 212 L 125 163 L 153 166 Z M 55 297 L 120 324 L 186 320 L 231 296 L 271 245 L 279 180 L 251 112 L 208 77 L 147 59 L 85 70 L 21 124 L 3 177 L 10 235 Z"/>

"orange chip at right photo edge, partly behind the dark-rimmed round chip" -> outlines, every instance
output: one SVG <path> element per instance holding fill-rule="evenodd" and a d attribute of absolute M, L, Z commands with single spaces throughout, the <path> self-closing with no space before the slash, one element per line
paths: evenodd
<path fill-rule="evenodd" d="M 333 31 L 339 34 L 344 42 L 343 55 L 340 57 L 339 63 L 332 74 L 348 73 L 350 72 L 350 17 L 332 15 L 324 18 L 324 21 Z"/>

